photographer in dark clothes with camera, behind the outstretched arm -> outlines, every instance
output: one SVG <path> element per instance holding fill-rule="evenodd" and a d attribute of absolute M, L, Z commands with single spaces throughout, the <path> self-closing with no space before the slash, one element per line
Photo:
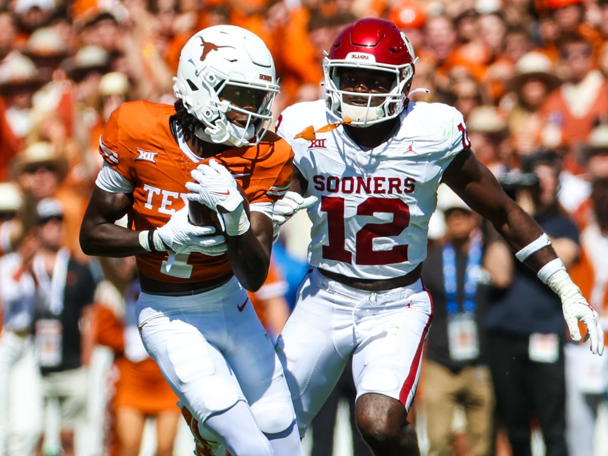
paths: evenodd
<path fill-rule="evenodd" d="M 523 159 L 521 173 L 499 179 L 505 191 L 547 232 L 566 268 L 579 252 L 578 229 L 558 202 L 561 158 L 542 150 Z M 565 443 L 565 326 L 561 303 L 511 255 L 513 281 L 486 316 L 488 363 L 497 420 L 513 454 L 531 455 L 531 421 L 542 430 L 547 456 L 567 455 Z M 550 378 L 547 382 L 545 379 Z"/>

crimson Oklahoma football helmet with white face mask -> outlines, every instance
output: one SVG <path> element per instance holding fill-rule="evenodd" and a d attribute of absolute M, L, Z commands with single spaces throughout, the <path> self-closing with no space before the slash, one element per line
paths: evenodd
<path fill-rule="evenodd" d="M 328 110 L 341 120 L 350 119 L 351 125 L 368 126 L 393 119 L 403 110 L 418 60 L 405 33 L 385 19 L 359 19 L 346 27 L 325 53 L 325 91 Z M 340 90 L 340 68 L 364 68 L 395 75 L 390 91 L 369 94 L 367 106 L 344 103 Z M 358 94 L 361 95 L 361 94 Z M 372 97 L 382 97 L 379 106 L 371 106 Z"/>

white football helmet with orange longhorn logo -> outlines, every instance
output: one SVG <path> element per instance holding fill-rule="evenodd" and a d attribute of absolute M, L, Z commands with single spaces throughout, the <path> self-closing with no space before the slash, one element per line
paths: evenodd
<path fill-rule="evenodd" d="M 173 82 L 175 96 L 202 123 L 194 132 L 202 140 L 255 145 L 271 125 L 279 91 L 274 61 L 266 44 L 249 30 L 220 25 L 196 33 L 182 48 Z M 230 95 L 221 100 L 224 89 Z M 237 105 L 240 94 L 256 100 L 255 112 Z M 245 114 L 246 125 L 230 123 L 229 110 Z"/>

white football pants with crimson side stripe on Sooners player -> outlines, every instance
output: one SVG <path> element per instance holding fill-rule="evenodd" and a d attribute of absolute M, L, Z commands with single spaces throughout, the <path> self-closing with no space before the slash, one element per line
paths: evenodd
<path fill-rule="evenodd" d="M 389 291 L 342 285 L 313 269 L 276 348 L 304 435 L 353 353 L 357 398 L 378 393 L 412 404 L 432 299 L 421 280 Z"/>

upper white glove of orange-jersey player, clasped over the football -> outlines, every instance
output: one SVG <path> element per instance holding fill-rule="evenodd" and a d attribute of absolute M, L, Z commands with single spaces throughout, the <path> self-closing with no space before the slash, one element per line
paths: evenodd
<path fill-rule="evenodd" d="M 209 165 L 198 165 L 190 174 L 196 181 L 186 182 L 186 188 L 190 190 L 186 196 L 190 201 L 198 201 L 215 210 L 222 229 L 226 230 L 229 236 L 241 235 L 249 229 L 249 218 L 243 207 L 243 195 L 238 190 L 237 181 L 226 167 L 210 160 Z"/>

